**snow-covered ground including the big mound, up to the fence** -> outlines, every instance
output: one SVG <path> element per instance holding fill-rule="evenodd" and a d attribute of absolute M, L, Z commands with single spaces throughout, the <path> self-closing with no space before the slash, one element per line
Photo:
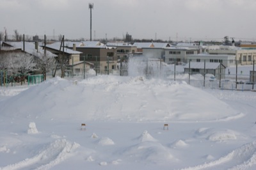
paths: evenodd
<path fill-rule="evenodd" d="M 141 76 L 1 87 L 0 169 L 256 169 L 255 111 L 252 91 Z"/>

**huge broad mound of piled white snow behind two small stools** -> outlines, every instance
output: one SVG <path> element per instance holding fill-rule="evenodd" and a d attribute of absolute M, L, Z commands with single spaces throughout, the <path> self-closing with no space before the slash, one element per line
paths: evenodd
<path fill-rule="evenodd" d="M 243 116 L 186 82 L 109 75 L 77 82 L 49 79 L 4 100 L 0 112 L 59 121 L 224 121 Z"/>

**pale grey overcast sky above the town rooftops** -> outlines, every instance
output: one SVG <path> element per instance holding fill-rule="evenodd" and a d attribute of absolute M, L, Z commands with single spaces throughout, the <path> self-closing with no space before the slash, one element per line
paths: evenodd
<path fill-rule="evenodd" d="M 92 39 L 256 40 L 256 0 L 0 0 L 0 31 Z"/>

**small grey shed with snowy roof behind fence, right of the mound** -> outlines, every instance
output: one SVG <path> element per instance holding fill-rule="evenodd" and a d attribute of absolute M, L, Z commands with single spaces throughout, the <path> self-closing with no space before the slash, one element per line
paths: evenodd
<path fill-rule="evenodd" d="M 225 79 L 225 69 L 226 67 L 222 63 L 209 63 L 209 62 L 190 62 L 186 64 L 184 67 L 184 72 L 189 73 L 189 68 L 190 68 L 190 73 L 191 74 L 196 74 L 200 73 L 202 75 L 211 73 L 216 77 L 216 79 Z"/>

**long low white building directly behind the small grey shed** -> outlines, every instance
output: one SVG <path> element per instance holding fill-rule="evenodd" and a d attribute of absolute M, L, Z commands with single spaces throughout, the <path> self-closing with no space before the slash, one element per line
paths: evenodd
<path fill-rule="evenodd" d="M 216 54 L 191 54 L 187 56 L 188 61 L 191 62 L 207 62 L 207 63 L 222 63 L 225 67 L 234 66 L 236 65 L 235 57 L 232 55 L 216 55 Z"/>

